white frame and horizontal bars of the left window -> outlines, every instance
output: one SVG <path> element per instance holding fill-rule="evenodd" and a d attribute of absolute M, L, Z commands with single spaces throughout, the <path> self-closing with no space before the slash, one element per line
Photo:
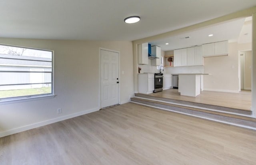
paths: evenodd
<path fill-rule="evenodd" d="M 40 49 L 40 48 L 30 48 L 30 47 L 25 47 L 25 46 L 15 46 L 15 45 L 8 45 L 8 44 L 1 44 L 1 43 L 0 43 L 0 46 L 12 46 L 12 47 L 16 47 L 16 48 L 26 48 L 26 49 L 31 49 L 31 50 L 42 50 L 42 51 L 47 51 L 47 52 L 52 53 L 52 60 L 51 60 L 52 70 L 51 70 L 51 72 L 42 72 L 42 73 L 51 73 L 51 83 L 48 83 L 48 84 L 51 84 L 51 93 L 0 98 L 0 105 L 6 104 L 6 103 L 16 103 L 16 102 L 32 101 L 32 100 L 47 99 L 47 98 L 55 97 L 55 95 L 54 95 L 54 51 L 53 50 L 46 50 L 46 49 Z M 8 58 L 5 58 L 5 59 L 8 59 Z M 9 59 L 19 60 L 18 58 L 9 58 Z M 27 60 L 27 61 L 29 61 L 29 60 Z M 32 61 L 41 61 L 41 60 L 32 60 Z M 50 61 L 47 61 L 47 62 L 50 62 Z M 0 70 L 0 72 L 3 73 L 4 71 Z M 12 71 L 8 71 L 8 72 L 12 72 Z M 32 72 L 34 72 L 34 71 L 20 71 L 20 73 L 32 73 Z M 19 73 L 19 71 L 17 73 Z M 39 73 L 41 73 L 41 72 L 39 72 Z M 23 83 L 23 84 L 17 84 L 17 85 L 26 85 L 26 84 L 34 84 L 34 83 Z M 40 84 L 43 84 L 43 83 L 40 83 Z M 4 85 L 8 85 L 8 84 L 4 84 Z M 4 85 L 2 85 L 2 86 L 4 86 Z M 11 84 L 9 84 L 9 85 L 11 85 Z"/>

